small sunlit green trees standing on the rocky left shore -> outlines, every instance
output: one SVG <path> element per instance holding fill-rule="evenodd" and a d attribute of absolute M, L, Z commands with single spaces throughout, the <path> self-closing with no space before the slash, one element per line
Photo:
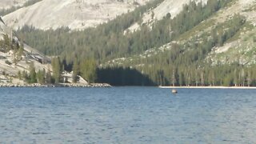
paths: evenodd
<path fill-rule="evenodd" d="M 76 69 L 74 64 L 74 69 Z M 60 58 L 54 57 L 51 59 L 52 70 L 37 70 L 34 67 L 34 62 L 30 62 L 30 67 L 28 70 L 18 71 L 17 78 L 24 80 L 28 83 L 40 83 L 40 84 L 58 84 L 66 83 L 65 78 L 62 77 L 64 72 L 63 63 L 60 61 Z M 97 78 L 97 66 L 95 66 L 94 61 L 86 60 L 82 66 L 83 73 L 80 70 L 74 70 L 72 75 L 72 82 L 78 82 L 78 75 L 81 75 L 82 78 L 85 78 L 87 82 L 96 82 Z"/>

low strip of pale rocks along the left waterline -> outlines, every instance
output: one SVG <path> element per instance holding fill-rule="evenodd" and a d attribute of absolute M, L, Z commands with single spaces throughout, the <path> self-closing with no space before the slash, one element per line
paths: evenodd
<path fill-rule="evenodd" d="M 59 83 L 59 84 L 14 84 L 14 83 L 0 83 L 0 87 L 112 87 L 108 83 Z"/>

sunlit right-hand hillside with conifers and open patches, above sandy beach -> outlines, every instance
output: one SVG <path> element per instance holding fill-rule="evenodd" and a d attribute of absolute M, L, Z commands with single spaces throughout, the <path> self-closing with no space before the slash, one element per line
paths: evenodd
<path fill-rule="evenodd" d="M 132 66 L 159 85 L 172 81 L 172 72 L 179 85 L 255 85 L 255 10 L 254 0 L 230 2 L 173 41 L 142 54 L 112 59 L 102 66 Z M 212 45 L 214 33 L 218 39 Z"/>

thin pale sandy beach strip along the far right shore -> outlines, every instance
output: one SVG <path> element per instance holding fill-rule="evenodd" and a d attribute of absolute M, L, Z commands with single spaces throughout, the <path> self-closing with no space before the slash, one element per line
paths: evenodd
<path fill-rule="evenodd" d="M 158 86 L 162 89 L 255 89 L 256 86 Z"/>

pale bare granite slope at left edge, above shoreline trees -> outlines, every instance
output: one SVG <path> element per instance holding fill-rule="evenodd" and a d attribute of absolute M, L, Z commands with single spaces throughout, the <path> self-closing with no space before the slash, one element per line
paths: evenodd
<path fill-rule="evenodd" d="M 0 82 L 10 82 L 10 79 L 13 79 L 14 83 L 23 83 L 22 80 L 18 80 L 17 75 L 22 71 L 28 72 L 31 63 L 34 63 L 36 71 L 51 70 L 50 58 L 26 44 L 22 46 L 22 42 L 13 36 L 10 28 L 2 22 L 0 22 L 0 36 Z M 11 43 L 10 39 L 12 39 Z"/>

